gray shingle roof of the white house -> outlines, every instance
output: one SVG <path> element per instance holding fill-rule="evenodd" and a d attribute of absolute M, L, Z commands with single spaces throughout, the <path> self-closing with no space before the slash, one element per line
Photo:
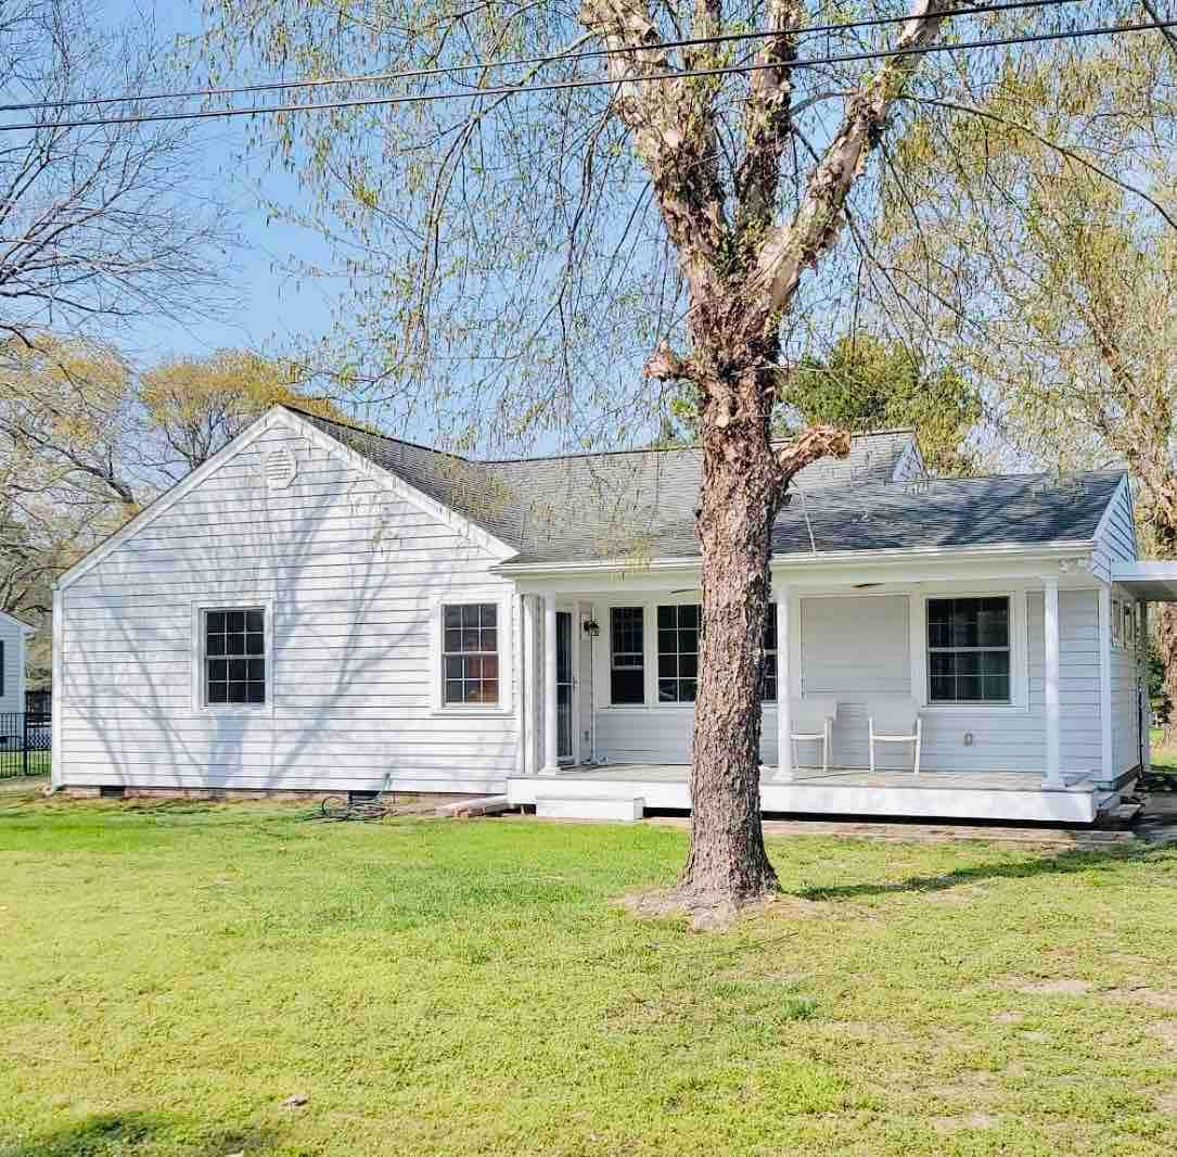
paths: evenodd
<path fill-rule="evenodd" d="M 694 449 L 473 462 L 300 417 L 519 551 L 514 562 L 699 553 Z M 1122 472 L 896 483 L 910 431 L 862 435 L 844 460 L 803 470 L 773 528 L 773 554 L 1035 546 L 1091 538 Z M 807 518 L 806 518 L 807 514 Z M 812 540 L 811 540 L 812 533 Z"/>

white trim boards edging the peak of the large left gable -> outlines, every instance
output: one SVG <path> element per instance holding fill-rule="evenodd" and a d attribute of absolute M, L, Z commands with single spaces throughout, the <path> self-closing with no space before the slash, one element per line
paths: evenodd
<path fill-rule="evenodd" d="M 317 425 L 313 425 L 301 415 L 285 406 L 275 405 L 261 415 L 255 422 L 242 430 L 228 445 L 217 451 L 207 462 L 201 463 L 186 478 L 178 482 L 171 490 L 160 495 L 146 510 L 141 510 L 125 527 L 117 530 L 105 542 L 99 543 L 88 555 L 79 560 L 56 581 L 56 589 L 65 590 L 73 586 L 79 578 L 94 569 L 104 558 L 118 550 L 128 538 L 133 538 L 140 530 L 149 527 L 157 518 L 167 514 L 177 503 L 195 490 L 205 480 L 215 474 L 222 465 L 235 458 L 242 450 L 257 442 L 262 435 L 271 430 L 286 428 L 299 437 L 305 437 L 312 444 L 326 450 L 330 454 L 343 458 L 357 471 L 378 482 L 395 497 L 412 503 L 423 514 L 452 527 L 458 534 L 478 543 L 490 554 L 500 561 L 505 561 L 518 554 L 513 547 L 496 538 L 483 530 L 481 527 L 470 522 L 448 507 L 434 502 L 428 495 L 423 494 L 415 487 L 410 485 L 404 478 L 378 467 L 374 462 L 357 454 L 350 447 L 344 445 L 335 438 L 324 434 Z"/>

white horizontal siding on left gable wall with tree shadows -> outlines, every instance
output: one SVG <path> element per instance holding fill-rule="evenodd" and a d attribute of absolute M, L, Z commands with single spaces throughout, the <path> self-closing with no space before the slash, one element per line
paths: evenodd
<path fill-rule="evenodd" d="M 261 455 L 278 447 L 299 472 L 270 491 Z M 344 458 L 267 431 L 62 593 L 62 781 L 345 791 L 391 772 L 405 789 L 501 791 L 514 713 L 431 709 L 435 601 L 510 590 L 493 562 Z M 271 702 L 194 709 L 193 606 L 261 600 Z"/>

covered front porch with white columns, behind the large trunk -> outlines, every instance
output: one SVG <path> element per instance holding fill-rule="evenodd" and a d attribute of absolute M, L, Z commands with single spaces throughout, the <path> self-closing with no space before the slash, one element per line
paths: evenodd
<path fill-rule="evenodd" d="M 1073 547 L 1043 555 L 774 561 L 763 809 L 1046 824 L 1112 811 L 1149 758 L 1143 593 Z M 517 582 L 511 802 L 583 818 L 687 811 L 697 569 L 605 589 L 583 575 Z M 833 705 L 824 753 L 791 739 L 816 702 Z M 918 773 L 911 745 L 871 753 L 896 709 L 919 719 Z"/>

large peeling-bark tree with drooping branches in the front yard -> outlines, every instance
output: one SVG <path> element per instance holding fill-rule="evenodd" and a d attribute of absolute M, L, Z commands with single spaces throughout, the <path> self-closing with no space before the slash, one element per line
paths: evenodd
<path fill-rule="evenodd" d="M 904 98 L 996 75 L 1006 54 L 924 59 L 943 0 L 866 26 L 855 18 L 897 13 L 804 0 L 208 7 L 218 77 L 418 70 L 384 91 L 470 94 L 280 123 L 279 157 L 315 190 L 318 223 L 353 273 L 358 356 L 378 396 L 407 405 L 413 381 L 439 425 L 483 443 L 571 431 L 564 441 L 617 444 L 634 425 L 654 437 L 666 391 L 685 385 L 703 455 L 707 630 L 677 898 L 706 910 L 763 895 L 774 885 L 758 786 L 769 533 L 797 470 L 849 444 L 818 427 L 774 450 L 772 414 L 814 331 L 844 328 L 856 297 L 889 284 L 873 259 L 871 159 L 916 114 Z M 834 15 L 844 35 L 805 37 Z M 1082 19 L 1056 6 L 955 19 L 952 35 Z M 717 39 L 750 28 L 766 34 Z M 692 42 L 666 47 L 681 39 Z M 862 55 L 883 47 L 898 54 Z M 585 48 L 607 55 L 586 66 Z M 851 59 L 799 65 L 826 48 Z M 541 62 L 488 64 L 512 55 Z M 611 84 L 581 86 L 588 67 Z M 558 87 L 494 91 L 540 74 Z M 361 91 L 373 87 L 340 93 Z M 853 249 L 839 264 L 844 223 Z"/>

